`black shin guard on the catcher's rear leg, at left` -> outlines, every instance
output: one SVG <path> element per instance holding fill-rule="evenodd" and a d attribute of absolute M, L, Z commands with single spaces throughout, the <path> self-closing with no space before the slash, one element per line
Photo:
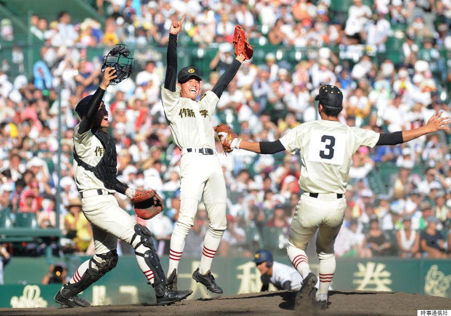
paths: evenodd
<path fill-rule="evenodd" d="M 102 259 L 102 262 L 97 262 L 92 258 L 89 260 L 89 268 L 83 273 L 78 282 L 68 283 L 64 287 L 71 290 L 74 295 L 87 289 L 92 283 L 100 279 L 105 273 L 111 271 L 117 265 L 116 250 L 109 251 L 105 254 L 96 255 Z M 95 267 L 93 266 L 95 265 Z"/>

